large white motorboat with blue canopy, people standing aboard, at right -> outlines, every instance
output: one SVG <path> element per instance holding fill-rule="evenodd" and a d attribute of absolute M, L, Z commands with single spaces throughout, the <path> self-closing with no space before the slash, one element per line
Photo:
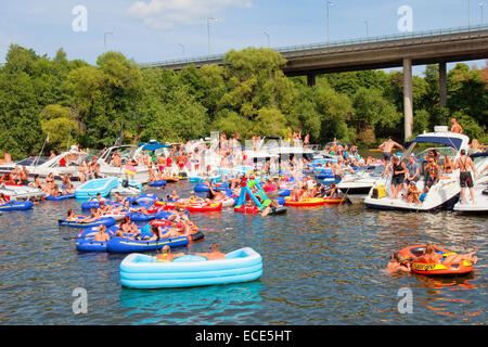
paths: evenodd
<path fill-rule="evenodd" d="M 462 149 L 467 151 L 468 141 L 470 139 L 464 134 L 447 131 L 446 127 L 436 127 L 435 132 L 419 134 L 414 140 L 407 142 L 407 150 L 403 152 L 401 160 L 406 162 L 419 143 L 434 143 L 454 149 L 455 155 L 452 157 L 452 162 L 455 163 L 455 159 L 460 156 L 460 151 Z M 442 163 L 444 156 L 441 155 L 438 165 L 442 165 Z M 423 174 L 422 171 L 423 168 L 421 168 L 421 174 Z M 416 187 L 421 192 L 424 190 L 424 180 L 425 177 L 421 176 L 420 181 L 416 183 Z M 370 190 L 369 195 L 364 198 L 364 204 L 368 208 L 404 211 L 451 209 L 458 202 L 461 191 L 459 184 L 459 170 L 454 170 L 449 175 L 441 174 L 441 179 L 431 188 L 427 194 L 421 196 L 422 204 L 420 205 L 408 203 L 402 198 L 391 198 L 390 182 L 390 176 L 375 182 L 374 187 Z M 385 196 L 376 197 L 375 193 L 377 193 L 378 187 L 384 189 Z"/>

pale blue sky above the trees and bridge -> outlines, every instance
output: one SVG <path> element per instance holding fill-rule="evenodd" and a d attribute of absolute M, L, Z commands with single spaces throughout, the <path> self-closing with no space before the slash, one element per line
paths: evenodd
<path fill-rule="evenodd" d="M 481 0 L 331 2 L 331 42 L 364 38 L 367 26 L 369 37 L 401 34 L 402 5 L 412 11 L 413 31 L 480 25 L 481 12 L 488 24 L 488 1 L 481 7 Z M 221 54 L 268 47 L 268 39 L 271 48 L 326 42 L 326 0 L 0 0 L 0 63 L 11 43 L 49 57 L 63 48 L 69 60 L 95 64 L 105 50 L 150 63 L 205 56 L 209 48 Z M 207 25 L 209 17 L 216 21 Z"/>

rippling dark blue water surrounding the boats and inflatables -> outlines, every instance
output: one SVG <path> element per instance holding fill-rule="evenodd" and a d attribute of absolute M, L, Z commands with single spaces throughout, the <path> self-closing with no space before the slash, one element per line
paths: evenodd
<path fill-rule="evenodd" d="M 169 190 L 187 195 L 191 185 Z M 195 214 L 205 233 L 177 252 L 222 252 L 251 246 L 264 259 L 260 280 L 175 290 L 120 286 L 125 255 L 81 254 L 80 230 L 60 228 L 74 200 L 43 202 L 0 216 L 1 324 L 485 324 L 487 219 L 453 213 L 403 214 L 362 205 L 288 208 L 287 215 L 245 216 L 232 209 Z M 393 252 L 435 243 L 454 252 L 477 249 L 468 277 L 431 279 L 389 274 Z M 88 313 L 74 314 L 73 291 L 88 293 Z M 413 313 L 400 314 L 398 291 L 413 295 Z"/>

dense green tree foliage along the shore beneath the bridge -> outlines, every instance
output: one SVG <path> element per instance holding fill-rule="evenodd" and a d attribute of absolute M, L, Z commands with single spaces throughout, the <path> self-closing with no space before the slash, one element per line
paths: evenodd
<path fill-rule="evenodd" d="M 12 44 L 0 68 L 0 150 L 14 158 L 44 150 L 111 145 L 125 141 L 185 141 L 218 130 L 241 139 L 301 131 L 311 143 L 333 138 L 374 145 L 403 137 L 401 72 L 362 70 L 286 77 L 283 56 L 269 49 L 230 51 L 224 64 L 176 73 L 141 69 L 121 53 L 106 52 L 95 65 L 39 56 Z M 455 117 L 464 132 L 488 140 L 488 68 L 458 64 L 448 74 L 448 100 L 439 104 L 437 65 L 413 77 L 414 134 Z"/>

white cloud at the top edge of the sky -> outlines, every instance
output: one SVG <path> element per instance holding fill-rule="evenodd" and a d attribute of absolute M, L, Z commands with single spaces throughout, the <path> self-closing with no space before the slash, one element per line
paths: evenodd
<path fill-rule="evenodd" d="M 205 23 L 229 8 L 248 9 L 251 0 L 150 0 L 132 3 L 127 13 L 155 29 Z"/>

